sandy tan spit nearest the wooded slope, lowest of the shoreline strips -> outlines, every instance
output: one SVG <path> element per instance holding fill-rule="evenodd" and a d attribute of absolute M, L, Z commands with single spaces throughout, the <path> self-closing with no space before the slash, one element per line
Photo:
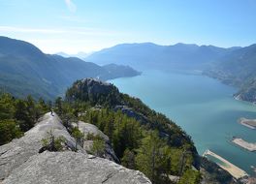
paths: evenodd
<path fill-rule="evenodd" d="M 220 168 L 225 169 L 228 172 L 230 172 L 230 174 L 233 175 L 236 179 L 239 179 L 243 176 L 248 175 L 244 170 L 242 170 L 242 169 L 238 168 L 237 166 L 233 165 L 232 163 L 230 163 L 226 159 L 222 158 L 221 156 L 213 153 L 212 151 L 206 150 L 205 153 L 203 154 L 203 157 L 207 157 L 208 155 L 212 156 L 212 157 L 218 159 L 219 161 L 221 161 L 222 163 L 224 163 L 224 165 L 220 164 L 220 163 L 216 163 L 216 164 Z"/>

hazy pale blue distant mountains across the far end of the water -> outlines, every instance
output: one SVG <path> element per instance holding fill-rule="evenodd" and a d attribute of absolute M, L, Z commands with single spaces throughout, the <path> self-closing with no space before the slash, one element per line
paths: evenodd
<path fill-rule="evenodd" d="M 94 52 L 86 57 L 86 61 L 99 65 L 118 63 L 140 70 L 199 69 L 239 48 L 180 43 L 174 46 L 158 46 L 152 43 L 123 44 Z"/>

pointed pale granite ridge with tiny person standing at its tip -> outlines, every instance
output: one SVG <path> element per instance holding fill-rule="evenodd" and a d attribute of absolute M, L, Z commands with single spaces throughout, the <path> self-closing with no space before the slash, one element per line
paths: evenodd
<path fill-rule="evenodd" d="M 31 156 L 38 154 L 43 147 L 42 139 L 51 131 L 54 137 L 63 137 L 66 149 L 74 149 L 76 143 L 61 124 L 57 114 L 45 114 L 34 128 L 25 133 L 22 138 L 0 146 L 0 180 L 6 178 L 13 169 L 16 169 Z M 80 151 L 83 151 L 80 149 Z M 85 151 L 83 151 L 85 153 Z"/>

